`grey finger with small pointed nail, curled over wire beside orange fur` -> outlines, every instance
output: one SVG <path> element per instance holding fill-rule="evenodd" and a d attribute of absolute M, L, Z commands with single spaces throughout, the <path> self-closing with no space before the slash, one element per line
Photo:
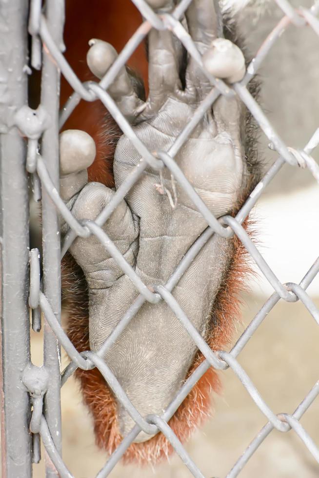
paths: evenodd
<path fill-rule="evenodd" d="M 86 56 L 88 67 L 93 75 L 102 79 L 118 58 L 118 53 L 106 41 L 92 39 L 89 45 L 90 49 Z M 134 119 L 144 107 L 144 102 L 138 97 L 125 66 L 120 69 L 116 79 L 109 86 L 108 92 L 118 103 L 123 115 L 130 120 Z"/>

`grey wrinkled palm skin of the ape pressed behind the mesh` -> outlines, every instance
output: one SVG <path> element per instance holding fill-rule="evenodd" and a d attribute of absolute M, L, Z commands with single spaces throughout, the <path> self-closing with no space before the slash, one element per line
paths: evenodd
<path fill-rule="evenodd" d="M 213 0 L 193 2 L 186 20 L 193 40 L 199 50 L 205 52 L 215 38 Z M 179 50 L 168 32 L 151 32 L 150 95 L 142 108 L 141 100 L 132 92 L 129 78 L 123 77 L 123 72 L 119 88 L 116 81 L 113 85 L 114 99 L 123 114 L 133 118 L 136 134 L 150 151 L 167 151 L 210 90 L 206 78 L 192 60 L 187 65 L 186 88 L 181 90 Z M 230 73 L 236 74 L 236 71 Z M 216 217 L 232 211 L 246 187 L 240 138 L 242 114 L 237 100 L 220 98 L 175 158 Z M 67 155 L 62 156 L 61 152 L 62 162 L 68 161 Z M 116 187 L 139 161 L 140 156 L 130 140 L 122 136 L 114 158 Z M 69 171 L 70 167 L 64 170 Z M 64 199 L 76 218 L 95 219 L 115 192 L 100 183 L 84 184 L 87 176 L 79 174 L 75 164 L 74 173 L 62 178 Z M 174 198 L 170 173 L 166 169 L 163 182 Z M 178 184 L 176 207 L 172 207 L 167 194 L 160 194 L 159 184 L 159 173 L 148 168 L 104 225 L 105 232 L 146 284 L 165 284 L 207 227 Z M 71 253 L 88 283 L 90 345 L 97 351 L 139 293 L 94 237 L 78 238 Z M 231 254 L 231 243 L 213 236 L 173 291 L 203 337 Z M 146 416 L 163 412 L 179 390 L 196 351 L 193 340 L 165 302 L 159 305 L 145 303 L 105 360 L 134 406 Z M 134 422 L 120 404 L 118 418 L 120 433 L 125 436 Z M 136 441 L 148 438 L 140 433 Z"/>

